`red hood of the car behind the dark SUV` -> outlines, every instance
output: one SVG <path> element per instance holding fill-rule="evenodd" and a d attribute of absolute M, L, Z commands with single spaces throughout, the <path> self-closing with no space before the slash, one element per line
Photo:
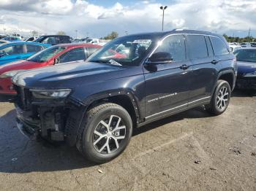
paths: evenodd
<path fill-rule="evenodd" d="M 7 72 L 7 71 L 34 69 L 35 66 L 37 66 L 37 64 L 39 63 L 26 61 L 26 60 L 7 63 L 7 64 L 4 64 L 3 66 L 0 66 L 0 74 L 3 74 L 4 72 Z"/>

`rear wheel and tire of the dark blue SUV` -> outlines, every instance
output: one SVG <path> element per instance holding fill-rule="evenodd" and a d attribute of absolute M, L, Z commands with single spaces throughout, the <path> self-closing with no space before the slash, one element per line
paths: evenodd
<path fill-rule="evenodd" d="M 222 114 L 230 103 L 230 95 L 231 89 L 229 83 L 225 80 L 218 80 L 217 87 L 211 97 L 211 103 L 206 105 L 206 110 L 211 114 Z"/>

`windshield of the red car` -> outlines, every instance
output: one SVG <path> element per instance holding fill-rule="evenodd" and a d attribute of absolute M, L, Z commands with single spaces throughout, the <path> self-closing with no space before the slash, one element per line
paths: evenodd
<path fill-rule="evenodd" d="M 66 49 L 66 47 L 49 47 L 45 50 L 37 52 L 37 54 L 32 55 L 31 57 L 27 58 L 26 60 L 42 63 L 42 62 L 48 61 L 54 55 L 58 54 L 59 52 L 61 52 L 62 50 L 65 50 L 65 49 Z"/>

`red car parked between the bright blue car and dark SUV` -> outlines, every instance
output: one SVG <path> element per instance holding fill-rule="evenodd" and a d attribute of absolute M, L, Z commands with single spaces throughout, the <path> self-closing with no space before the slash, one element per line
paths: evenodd
<path fill-rule="evenodd" d="M 20 71 L 60 63 L 86 61 L 101 46 L 95 44 L 59 44 L 37 52 L 26 60 L 0 66 L 0 95 L 15 95 L 11 79 Z"/>

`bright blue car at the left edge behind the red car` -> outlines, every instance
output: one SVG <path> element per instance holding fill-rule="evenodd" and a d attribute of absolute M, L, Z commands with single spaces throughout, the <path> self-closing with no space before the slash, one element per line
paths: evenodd
<path fill-rule="evenodd" d="M 34 53 L 50 47 L 50 44 L 42 44 L 37 42 L 10 42 L 0 45 L 0 66 L 12 61 L 19 61 Z"/>

